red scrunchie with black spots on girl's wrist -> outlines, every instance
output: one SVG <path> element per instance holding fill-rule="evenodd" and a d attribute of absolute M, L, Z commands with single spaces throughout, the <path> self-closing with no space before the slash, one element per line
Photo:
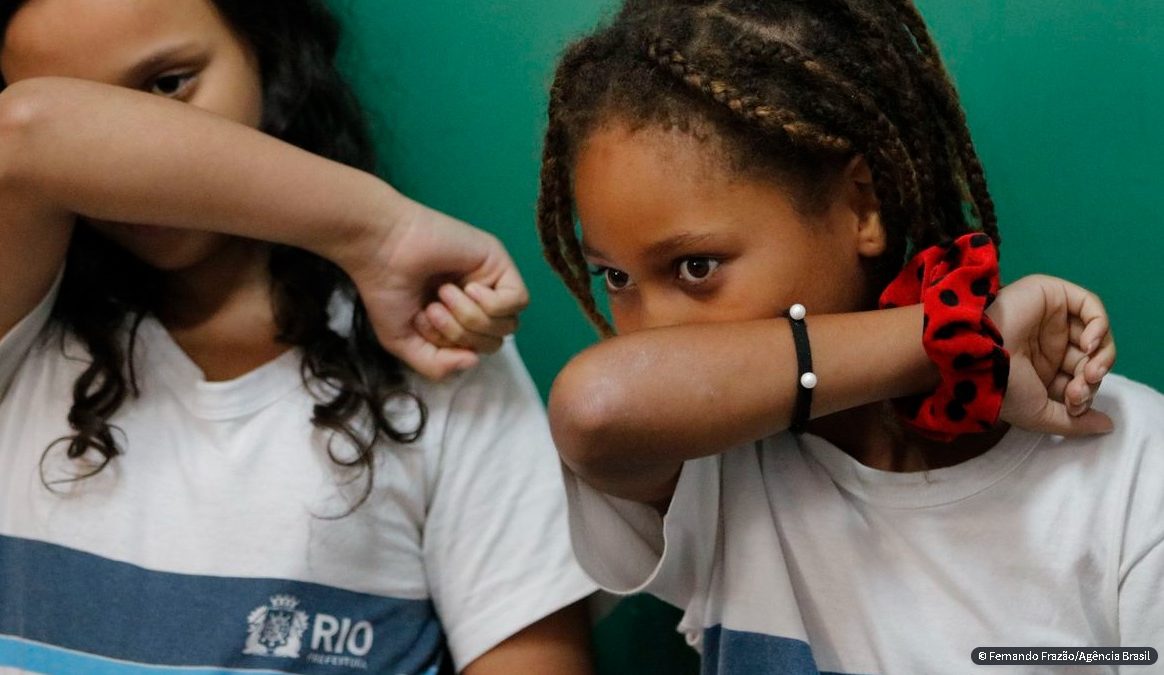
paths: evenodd
<path fill-rule="evenodd" d="M 925 306 L 922 343 L 942 382 L 894 400 L 897 415 L 920 434 L 951 441 L 998 422 L 1010 375 L 1010 355 L 986 315 L 998 292 L 999 253 L 979 233 L 921 251 L 881 293 L 882 308 Z"/>

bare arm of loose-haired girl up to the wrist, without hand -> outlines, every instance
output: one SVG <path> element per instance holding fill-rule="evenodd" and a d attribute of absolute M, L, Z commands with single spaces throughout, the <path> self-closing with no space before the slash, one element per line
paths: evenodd
<path fill-rule="evenodd" d="M 213 223 L 342 257 L 404 201 L 371 176 L 194 106 L 81 80 L 16 83 L 0 93 L 0 265 L 16 270 L 0 289 L 0 331 L 47 290 L 74 214 Z"/>

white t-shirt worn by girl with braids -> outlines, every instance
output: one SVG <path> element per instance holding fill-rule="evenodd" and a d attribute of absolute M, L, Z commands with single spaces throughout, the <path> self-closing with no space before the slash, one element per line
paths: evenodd
<path fill-rule="evenodd" d="M 1164 397 L 1108 376 L 1094 406 L 1115 432 L 1013 429 L 914 474 L 780 434 L 687 462 L 666 518 L 568 474 L 574 548 L 601 585 L 686 610 L 704 673 L 945 675 L 981 673 L 977 647 L 1164 652 Z"/>

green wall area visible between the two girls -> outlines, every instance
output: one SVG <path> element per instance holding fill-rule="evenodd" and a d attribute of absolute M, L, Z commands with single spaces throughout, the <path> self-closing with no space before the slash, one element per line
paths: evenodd
<path fill-rule="evenodd" d="M 518 344 L 542 395 L 594 341 L 534 230 L 554 59 L 591 27 L 588 0 L 335 0 L 348 72 L 374 113 L 385 173 L 405 193 L 504 240 L 533 301 Z M 606 3 L 609 6 L 609 3 Z"/>

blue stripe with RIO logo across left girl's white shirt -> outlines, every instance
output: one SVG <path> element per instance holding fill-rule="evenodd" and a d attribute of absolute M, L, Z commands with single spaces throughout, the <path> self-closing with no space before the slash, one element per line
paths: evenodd
<path fill-rule="evenodd" d="M 448 659 L 427 599 L 152 571 L 12 537 L 0 537 L 3 637 L 17 640 L 6 641 L 8 661 L 0 662 L 27 669 L 41 659 L 80 658 L 76 654 L 207 672 L 311 675 L 423 673 Z M 27 665 L 12 662 L 20 654 Z M 108 672 L 133 672 L 127 667 Z"/>

